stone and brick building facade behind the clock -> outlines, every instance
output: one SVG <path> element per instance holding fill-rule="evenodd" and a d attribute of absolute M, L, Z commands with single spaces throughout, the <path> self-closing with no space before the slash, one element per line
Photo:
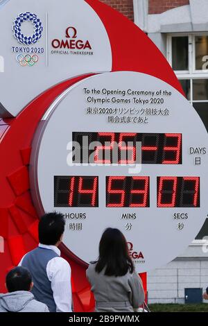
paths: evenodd
<path fill-rule="evenodd" d="M 134 20 L 173 67 L 208 130 L 208 1 L 105 0 Z M 133 15 L 132 15 L 133 10 Z M 133 17 L 132 17 L 133 16 Z M 208 286 L 208 218 L 189 248 L 148 273 L 150 303 L 184 303 L 184 289 Z"/>

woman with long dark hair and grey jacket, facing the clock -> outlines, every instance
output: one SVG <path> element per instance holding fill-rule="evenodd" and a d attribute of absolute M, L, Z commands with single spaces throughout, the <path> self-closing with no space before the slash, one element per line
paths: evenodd
<path fill-rule="evenodd" d="M 141 278 L 121 231 L 107 228 L 99 244 L 98 261 L 87 268 L 96 312 L 133 312 L 144 302 Z"/>

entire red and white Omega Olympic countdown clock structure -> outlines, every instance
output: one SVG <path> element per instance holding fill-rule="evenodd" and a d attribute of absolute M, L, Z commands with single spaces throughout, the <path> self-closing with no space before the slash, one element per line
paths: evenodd
<path fill-rule="evenodd" d="M 105 3 L 0 2 L 1 66 L 5 59 L 5 71 L 0 73 L 0 291 L 6 291 L 6 273 L 37 246 L 41 214 L 55 209 L 67 221 L 60 250 L 71 266 L 75 311 L 92 311 L 86 263 L 97 257 L 104 228 L 113 226 L 124 232 L 137 271 L 170 261 L 200 230 L 206 215 L 207 155 L 202 153 L 207 133 L 196 112 L 175 90 L 183 94 L 155 44 Z M 26 46 L 30 52 L 34 47 L 44 50 L 33 67 L 21 67 L 17 60 L 22 44 L 12 28 L 21 13 L 37 15 L 43 27 L 40 40 Z M 64 44 L 68 40 L 69 26 L 76 28 L 77 40 L 89 40 L 93 55 L 79 49 L 84 55 L 51 52 L 53 40 L 64 40 Z M 24 31 L 27 40 L 31 31 Z M 88 78 L 92 73 L 98 75 Z M 146 78 L 148 83 L 144 83 Z M 103 94 L 83 94 L 83 87 L 92 86 L 103 87 Z M 157 87 L 157 96 L 146 95 Z M 173 96 L 160 94 L 163 87 Z M 139 103 L 140 97 L 144 102 Z M 87 113 L 87 108 L 98 108 L 98 114 L 96 110 Z M 118 108 L 118 114 L 112 108 Z M 86 150 L 85 137 L 89 143 L 99 142 L 95 151 Z M 85 150 L 84 156 L 71 152 L 71 141 Z M 191 153 L 198 146 L 202 151 L 189 154 L 189 146 Z"/>

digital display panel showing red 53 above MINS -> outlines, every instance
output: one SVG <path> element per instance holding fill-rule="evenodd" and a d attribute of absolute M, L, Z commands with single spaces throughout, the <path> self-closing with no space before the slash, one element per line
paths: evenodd
<path fill-rule="evenodd" d="M 106 207 L 150 207 L 150 178 L 106 177 Z"/>

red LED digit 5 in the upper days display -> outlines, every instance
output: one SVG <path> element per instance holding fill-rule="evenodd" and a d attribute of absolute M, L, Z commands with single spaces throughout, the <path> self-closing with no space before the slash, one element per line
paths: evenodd
<path fill-rule="evenodd" d="M 127 160 L 119 160 L 119 164 L 133 164 L 136 161 L 136 148 L 135 146 L 126 146 L 125 141 L 123 140 L 125 137 L 135 137 L 137 133 L 132 132 L 125 132 L 119 135 L 119 148 L 121 150 L 121 157 L 122 151 L 125 151 L 125 156 L 128 157 Z M 128 153 L 129 151 L 132 152 L 131 158 L 129 159 Z"/>

